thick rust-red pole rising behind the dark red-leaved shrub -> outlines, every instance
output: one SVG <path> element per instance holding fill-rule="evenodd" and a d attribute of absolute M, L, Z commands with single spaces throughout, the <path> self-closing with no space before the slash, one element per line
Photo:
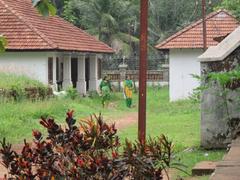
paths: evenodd
<path fill-rule="evenodd" d="M 147 41 L 148 41 L 148 0 L 141 0 L 140 10 L 140 68 L 139 68 L 139 108 L 138 139 L 146 140 L 146 82 L 147 82 Z"/>

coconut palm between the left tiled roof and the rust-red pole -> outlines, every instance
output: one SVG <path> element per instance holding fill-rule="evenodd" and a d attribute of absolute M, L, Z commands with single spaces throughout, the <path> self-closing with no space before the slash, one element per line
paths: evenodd
<path fill-rule="evenodd" d="M 63 16 L 95 35 L 117 52 L 129 56 L 136 44 L 137 5 L 129 0 L 69 0 Z"/>

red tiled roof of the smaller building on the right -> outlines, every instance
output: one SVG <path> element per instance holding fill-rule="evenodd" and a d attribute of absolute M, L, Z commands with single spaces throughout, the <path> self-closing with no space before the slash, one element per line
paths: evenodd
<path fill-rule="evenodd" d="M 226 10 L 206 17 L 207 47 L 218 44 L 216 37 L 226 36 L 239 26 L 239 22 Z M 187 26 L 156 46 L 157 49 L 202 48 L 202 19 Z"/>

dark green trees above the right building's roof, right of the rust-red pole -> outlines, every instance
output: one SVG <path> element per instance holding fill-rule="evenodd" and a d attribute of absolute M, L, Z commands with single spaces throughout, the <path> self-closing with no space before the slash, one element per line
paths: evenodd
<path fill-rule="evenodd" d="M 209 0 L 207 12 L 220 0 Z M 162 41 L 193 21 L 201 18 L 201 0 L 149 0 L 150 43 Z"/>

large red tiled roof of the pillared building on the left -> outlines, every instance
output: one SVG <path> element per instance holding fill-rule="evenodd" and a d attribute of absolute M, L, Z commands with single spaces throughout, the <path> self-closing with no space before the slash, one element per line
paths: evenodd
<path fill-rule="evenodd" d="M 0 0 L 0 34 L 7 38 L 7 50 L 114 52 L 60 17 L 42 17 L 31 0 Z"/>

